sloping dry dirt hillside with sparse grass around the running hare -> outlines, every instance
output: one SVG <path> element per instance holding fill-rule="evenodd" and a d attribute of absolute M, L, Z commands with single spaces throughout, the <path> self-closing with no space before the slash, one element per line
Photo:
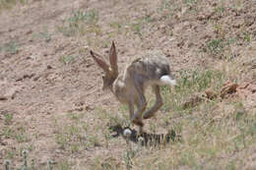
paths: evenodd
<path fill-rule="evenodd" d="M 255 7 L 0 0 L 0 167 L 26 159 L 29 169 L 256 169 Z M 90 56 L 107 58 L 113 40 L 120 70 L 157 49 L 178 82 L 161 88 L 142 142 Z M 152 105 L 150 90 L 147 98 Z"/>

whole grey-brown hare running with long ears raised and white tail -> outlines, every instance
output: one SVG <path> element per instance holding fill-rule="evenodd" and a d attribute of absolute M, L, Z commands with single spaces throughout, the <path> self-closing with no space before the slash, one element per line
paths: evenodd
<path fill-rule="evenodd" d="M 123 74 L 119 74 L 114 42 L 109 51 L 110 66 L 92 50 L 91 55 L 104 71 L 103 89 L 109 88 L 121 103 L 128 104 L 130 120 L 140 127 L 140 133 L 142 133 L 144 126 L 142 120 L 153 117 L 162 105 L 160 85 L 176 85 L 167 59 L 161 53 L 140 56 L 126 66 Z M 147 106 L 145 89 L 149 85 L 153 87 L 157 100 L 155 105 L 143 115 Z M 136 111 L 134 105 L 137 106 Z"/>

